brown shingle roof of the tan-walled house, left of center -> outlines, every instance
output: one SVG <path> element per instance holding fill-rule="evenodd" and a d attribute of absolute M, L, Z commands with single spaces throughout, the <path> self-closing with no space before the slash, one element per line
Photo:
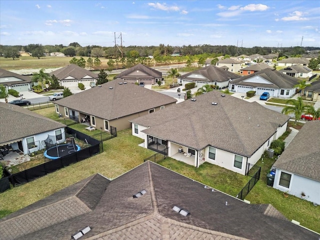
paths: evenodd
<path fill-rule="evenodd" d="M 119 84 L 119 82 L 122 81 L 116 79 L 106 82 L 100 87 L 92 87 L 59 99 L 56 104 L 106 120 L 112 120 L 176 102 L 173 97 L 160 92 L 133 83 Z M 109 87 L 112 87 L 112 89 Z"/>

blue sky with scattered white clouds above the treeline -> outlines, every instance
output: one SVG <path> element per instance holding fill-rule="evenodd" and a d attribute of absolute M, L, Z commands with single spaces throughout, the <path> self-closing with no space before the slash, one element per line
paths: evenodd
<path fill-rule="evenodd" d="M 0 0 L 2 45 L 320 47 L 319 27 L 319 0 Z"/>

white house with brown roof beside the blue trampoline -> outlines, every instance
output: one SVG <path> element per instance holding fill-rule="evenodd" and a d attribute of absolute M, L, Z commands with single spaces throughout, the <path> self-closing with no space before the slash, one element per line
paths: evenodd
<path fill-rule="evenodd" d="M 52 142 L 65 141 L 64 124 L 10 103 L 0 102 L 0 147 L 29 154 L 45 148 L 48 135 Z"/>

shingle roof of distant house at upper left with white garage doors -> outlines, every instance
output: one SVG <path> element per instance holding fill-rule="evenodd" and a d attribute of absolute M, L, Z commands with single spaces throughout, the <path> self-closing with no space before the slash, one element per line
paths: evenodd
<path fill-rule="evenodd" d="M 55 71 L 51 71 L 50 76 L 55 75 L 59 80 L 63 80 L 68 76 L 72 76 L 77 80 L 81 80 L 82 77 L 89 75 L 92 78 L 97 78 L 98 75 L 94 72 L 88 71 L 82 67 L 79 67 L 75 64 L 70 64 L 65 67 L 59 68 Z"/>

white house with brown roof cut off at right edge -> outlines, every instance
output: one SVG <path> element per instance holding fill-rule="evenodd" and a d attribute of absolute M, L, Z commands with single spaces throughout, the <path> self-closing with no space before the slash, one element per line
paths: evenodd
<path fill-rule="evenodd" d="M 274 188 L 320 205 L 320 122 L 306 122 L 273 168 Z"/>

